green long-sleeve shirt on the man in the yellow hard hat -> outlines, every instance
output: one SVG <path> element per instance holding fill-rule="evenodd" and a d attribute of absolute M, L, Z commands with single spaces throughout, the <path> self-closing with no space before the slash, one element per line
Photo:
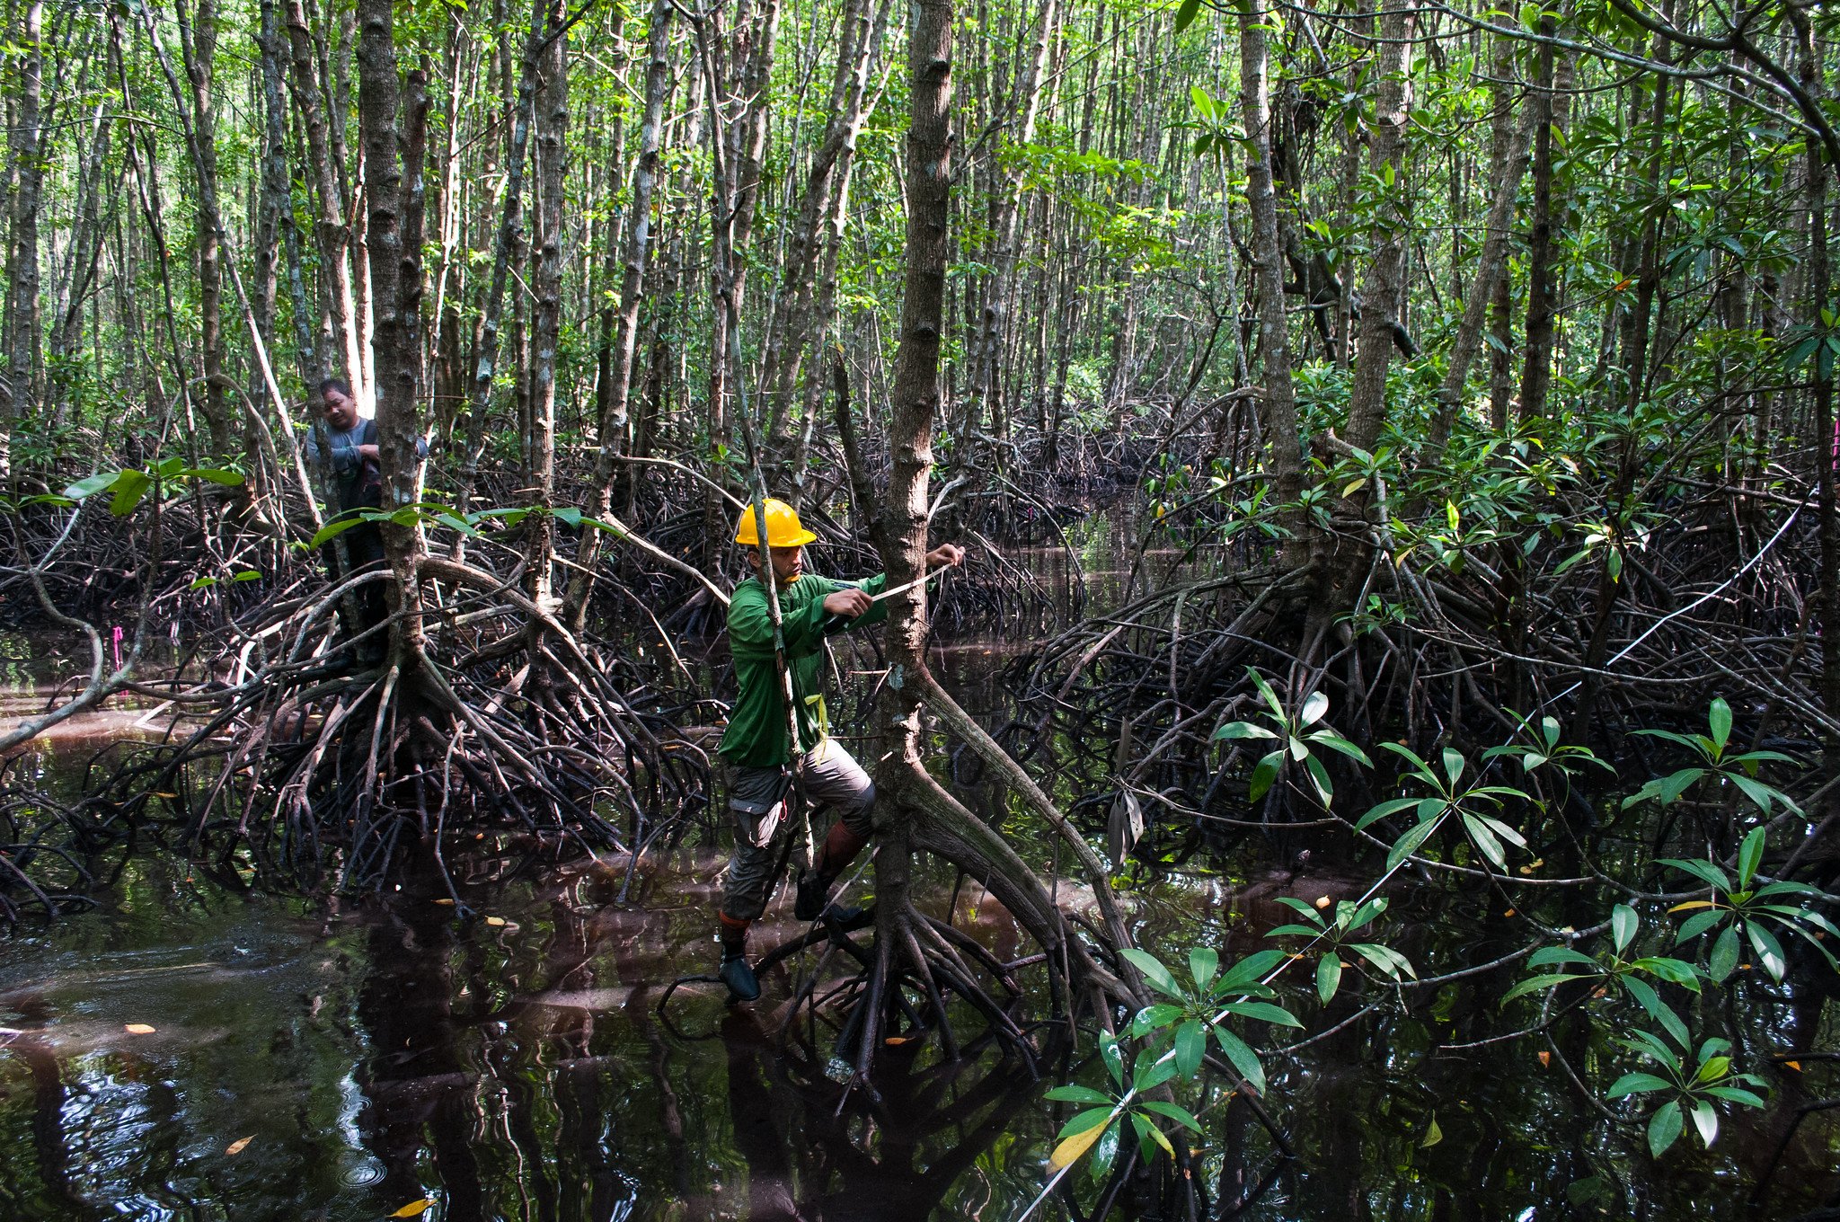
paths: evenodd
<path fill-rule="evenodd" d="M 889 583 L 887 574 L 867 582 L 832 582 L 815 572 L 800 574 L 791 585 L 780 587 L 780 624 L 786 629 L 786 666 L 793 677 L 793 709 L 799 714 L 799 751 L 810 751 L 824 736 L 819 718 L 819 696 L 824 685 L 824 600 L 856 585 L 868 594 L 880 594 Z M 889 618 L 889 604 L 878 602 L 854 620 L 841 620 L 828 631 L 843 631 Z M 734 587 L 729 602 L 729 650 L 734 655 L 734 679 L 740 694 L 729 729 L 716 749 L 723 760 L 742 767 L 778 767 L 791 755 L 786 751 L 786 699 L 773 664 L 773 613 L 767 607 L 767 587 L 760 578 L 747 578 Z"/>

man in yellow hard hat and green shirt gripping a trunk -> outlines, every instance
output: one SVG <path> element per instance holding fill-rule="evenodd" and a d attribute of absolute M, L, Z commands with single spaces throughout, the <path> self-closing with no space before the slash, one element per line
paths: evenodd
<path fill-rule="evenodd" d="M 765 517 L 793 716 L 786 716 L 786 681 L 778 674 L 773 613 L 760 580 L 760 530 L 749 508 L 734 541 L 747 548 L 754 576 L 742 582 L 729 602 L 729 646 L 740 694 L 718 747 L 730 767 L 729 810 L 734 815 L 734 856 L 716 909 L 719 975 L 736 1001 L 760 996 L 760 983 L 747 964 L 747 926 L 765 911 L 767 894 L 786 869 L 786 847 L 793 834 L 793 819 L 786 815 L 795 802 L 804 799 L 830 806 L 837 815 L 811 869 L 799 878 L 793 905 L 799 920 L 817 920 L 824 913 L 837 876 L 874 830 L 870 808 L 876 786 L 826 732 L 822 655 L 830 633 L 889 617 L 887 604 L 876 600 L 887 585 L 885 574 L 852 585 L 806 572 L 804 545 L 817 536 L 799 523 L 799 513 L 784 501 L 767 501 Z M 964 550 L 949 543 L 926 554 L 927 571 L 962 561 Z M 793 725 L 799 740 L 788 742 Z"/>

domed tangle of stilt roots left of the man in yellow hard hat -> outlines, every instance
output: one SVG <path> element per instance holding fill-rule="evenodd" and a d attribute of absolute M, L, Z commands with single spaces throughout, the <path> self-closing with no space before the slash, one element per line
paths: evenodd
<path fill-rule="evenodd" d="M 241 626 L 236 681 L 164 692 L 208 712 L 116 773 L 116 806 L 171 802 L 193 845 L 339 887 L 381 882 L 405 839 L 440 859 L 488 828 L 640 854 L 707 806 L 707 758 L 629 657 L 484 569 L 418 572 L 427 644 L 397 633 L 375 663 L 388 626 L 339 642 L 333 624 L 383 572 Z"/>

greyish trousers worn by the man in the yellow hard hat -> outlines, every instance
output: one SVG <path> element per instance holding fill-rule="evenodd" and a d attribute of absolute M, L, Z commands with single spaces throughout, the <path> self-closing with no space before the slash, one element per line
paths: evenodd
<path fill-rule="evenodd" d="M 729 769 L 729 813 L 734 821 L 734 856 L 721 889 L 721 916 L 745 926 L 767 911 L 767 894 L 786 869 L 799 804 L 828 806 L 854 836 L 874 834 L 870 810 L 876 782 L 835 740 L 826 738 L 804 758 L 799 786 L 784 767 Z M 780 804 L 784 802 L 784 812 Z"/>

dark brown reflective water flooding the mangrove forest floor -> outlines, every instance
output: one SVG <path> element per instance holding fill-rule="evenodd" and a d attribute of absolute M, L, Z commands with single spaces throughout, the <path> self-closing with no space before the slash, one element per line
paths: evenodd
<path fill-rule="evenodd" d="M 1087 580 L 1115 580 L 1108 559 L 1095 547 Z M 1001 661 L 997 640 L 940 653 L 986 705 Z M 15 672 L 17 688 L 42 666 Z M 42 744 L 31 767 L 55 780 L 85 749 Z M 995 817 L 1032 861 L 1054 863 L 1038 828 Z M 874 1097 L 845 1099 L 824 1077 L 822 1025 L 776 1051 L 788 975 L 751 1010 L 710 986 L 661 1010 L 672 979 L 712 966 L 721 863 L 718 847 L 684 848 L 642 869 L 618 902 L 624 861 L 558 863 L 484 841 L 456 869 L 477 909 L 458 920 L 416 874 L 328 915 L 230 894 L 173 858 L 136 859 L 96 911 L 0 942 L 0 1222 L 342 1222 L 418 1202 L 440 1222 L 1019 1216 L 1067 1115 L 1040 1093 L 1097 1080 L 1093 1066 L 1051 1064 L 1036 1082 L 1014 1060 L 984 1051 L 951 1064 L 922 1040 L 889 1051 Z M 1290 918 L 1282 894 L 1363 887 L 1358 872 L 1273 869 L 1253 845 L 1133 872 L 1126 893 L 1141 940 L 1176 961 L 1194 944 L 1225 959 L 1260 948 Z M 953 880 L 929 876 L 922 891 L 948 915 Z M 1078 904 L 1076 887 L 1064 891 Z M 775 902 L 756 946 L 793 931 L 788 907 Z M 949 916 L 1001 953 L 1027 951 L 975 889 L 957 893 Z M 1494 896 L 1402 887 L 1389 940 L 1432 974 L 1507 951 L 1522 929 Z M 1540 1042 L 1454 1047 L 1507 1029 L 1498 997 L 1512 979 L 1420 990 L 1340 1029 L 1354 985 L 1321 1007 L 1306 974 L 1290 981 L 1281 999 L 1306 1031 L 1266 1045 L 1305 1043 L 1266 1064 L 1268 1108 L 1295 1158 L 1277 1158 L 1242 1102 L 1192 1101 L 1209 1196 L 1249 1196 L 1235 1216 L 1266 1222 L 1531 1222 L 1788 1218 L 1834 1191 L 1840 1130 L 1822 1115 L 1765 1202 L 1746 1202 L 1779 1119 L 1840 1095 L 1831 1064 L 1807 1064 L 1805 1080 L 1777 1073 L 1770 1113 L 1728 1117 L 1711 1154 L 1684 1143 L 1658 1165 L 1639 1130 L 1604 1121 L 1538 1056 Z M 1754 1031 L 1752 1058 L 1811 1038 L 1834 1045 L 1768 990 L 1731 1005 Z M 1614 1073 L 1628 1058 L 1610 1034 L 1568 1053 Z M 1089 1205 L 1084 1176 L 1071 1183 Z M 1156 1216 L 1128 1194 L 1126 1213 Z M 1069 1211 L 1051 1200 L 1036 1216 Z"/>

